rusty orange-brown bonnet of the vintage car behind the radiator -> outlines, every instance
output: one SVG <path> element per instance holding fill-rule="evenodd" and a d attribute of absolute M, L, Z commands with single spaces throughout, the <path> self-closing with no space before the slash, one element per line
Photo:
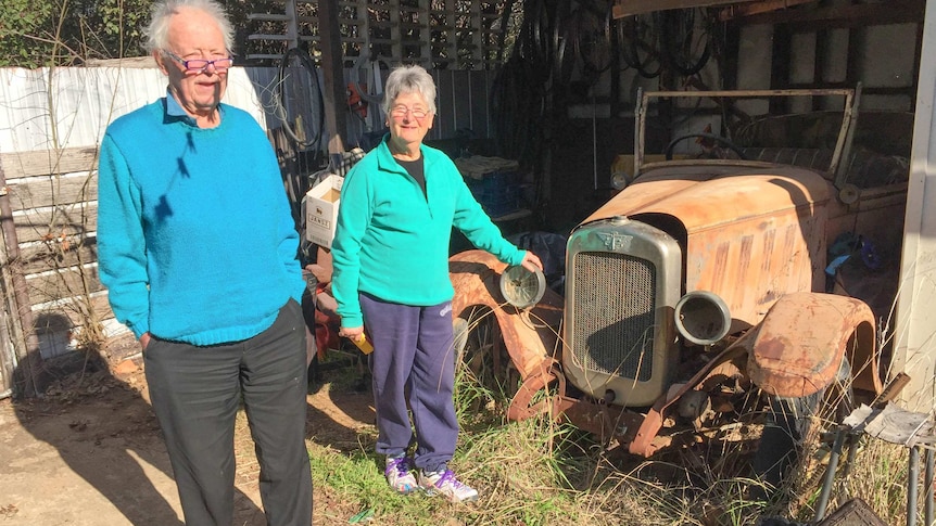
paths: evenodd
<path fill-rule="evenodd" d="M 752 175 L 738 175 L 738 167 L 700 170 L 668 163 L 645 172 L 582 224 L 616 217 L 680 221 L 684 233 L 670 233 L 685 235 L 680 243 L 686 290 L 719 291 L 735 330 L 755 325 L 783 294 L 822 285 L 812 269 L 825 265 L 818 248 L 825 222 L 804 218 L 825 217 L 834 189 L 807 168 L 751 166 L 746 169 Z M 717 264 L 707 265 L 709 258 Z"/>

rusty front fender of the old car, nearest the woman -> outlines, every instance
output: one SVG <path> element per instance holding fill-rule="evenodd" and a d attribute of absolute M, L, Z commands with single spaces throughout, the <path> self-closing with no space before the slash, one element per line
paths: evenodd
<path fill-rule="evenodd" d="M 483 305 L 497 319 L 504 345 L 520 373 L 527 381 L 542 375 L 559 360 L 557 354 L 558 328 L 562 319 L 562 297 L 546 290 L 539 304 L 520 310 L 510 306 L 501 295 L 501 273 L 506 264 L 484 251 L 467 251 L 448 259 L 448 272 L 455 297 L 452 316 L 465 309 Z"/>

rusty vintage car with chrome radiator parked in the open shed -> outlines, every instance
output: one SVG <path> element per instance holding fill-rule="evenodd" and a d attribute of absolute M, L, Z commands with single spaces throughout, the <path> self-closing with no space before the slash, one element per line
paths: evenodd
<path fill-rule="evenodd" d="M 552 411 L 648 457 L 843 380 L 880 394 L 912 115 L 859 116 L 859 94 L 641 93 L 633 178 L 570 232 L 564 288 L 480 251 L 452 256 L 456 341 L 516 389 L 508 416 Z M 645 152 L 659 101 L 739 115 L 775 98 L 840 106 Z"/>

